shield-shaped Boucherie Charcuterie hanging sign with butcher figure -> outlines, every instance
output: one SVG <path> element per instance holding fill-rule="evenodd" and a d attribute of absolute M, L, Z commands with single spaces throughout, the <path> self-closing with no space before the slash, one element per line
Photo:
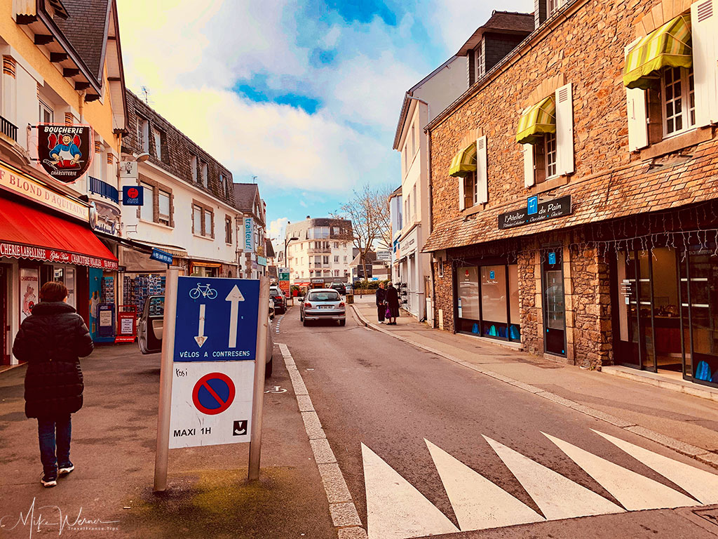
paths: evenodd
<path fill-rule="evenodd" d="M 37 157 L 53 179 L 75 183 L 90 167 L 93 132 L 86 125 L 41 124 L 37 126 Z"/>

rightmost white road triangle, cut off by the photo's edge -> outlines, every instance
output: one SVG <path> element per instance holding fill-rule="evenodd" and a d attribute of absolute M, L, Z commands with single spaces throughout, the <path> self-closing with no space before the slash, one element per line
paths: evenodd
<path fill-rule="evenodd" d="M 648 449 L 634 446 L 633 443 L 621 440 L 620 438 L 614 438 L 598 430 L 591 430 L 606 438 L 607 441 L 610 441 L 613 445 L 623 449 L 623 451 L 633 456 L 637 461 L 656 470 L 663 477 L 677 484 L 681 489 L 691 494 L 691 496 L 694 496 L 702 504 L 718 504 L 718 475 L 695 468 L 689 464 L 669 459 L 667 456 L 653 453 L 653 451 L 648 451 Z"/>

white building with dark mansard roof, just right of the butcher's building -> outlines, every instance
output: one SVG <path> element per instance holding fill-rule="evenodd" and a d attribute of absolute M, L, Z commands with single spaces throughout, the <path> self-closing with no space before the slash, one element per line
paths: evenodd
<path fill-rule="evenodd" d="M 121 178 L 121 188 L 141 188 L 144 203 L 123 206 L 119 294 L 141 311 L 147 295 L 164 293 L 169 265 L 180 275 L 238 275 L 240 211 L 227 168 L 129 91 L 127 102 L 123 162 L 136 162 L 136 176 Z M 171 262 L 151 258 L 153 249 Z"/>

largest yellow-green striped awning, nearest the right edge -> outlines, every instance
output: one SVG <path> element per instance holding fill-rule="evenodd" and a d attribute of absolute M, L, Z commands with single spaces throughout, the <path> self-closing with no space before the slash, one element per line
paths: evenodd
<path fill-rule="evenodd" d="M 641 38 L 626 56 L 623 84 L 626 88 L 651 87 L 662 68 L 693 65 L 691 19 L 681 15 Z"/>

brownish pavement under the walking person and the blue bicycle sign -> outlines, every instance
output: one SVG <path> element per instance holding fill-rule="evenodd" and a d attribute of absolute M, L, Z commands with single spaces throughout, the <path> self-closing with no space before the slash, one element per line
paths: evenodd
<path fill-rule="evenodd" d="M 33 502 L 35 520 L 42 513 L 47 522 L 57 522 L 61 512 L 74 522 L 81 512 L 81 518 L 111 522 L 92 525 L 92 530 L 64 528 L 63 538 L 336 538 L 277 347 L 274 375 L 265 389 L 280 386 L 286 392 L 264 398 L 258 482 L 246 480 L 248 443 L 171 449 L 163 494 L 152 492 L 159 354 L 143 356 L 136 344 L 103 346 L 81 362 L 85 405 L 73 415 L 76 469 L 52 489 L 39 482 L 37 421 L 23 411 L 26 367 L 0 374 L 2 538 L 29 536 L 29 524 L 16 523 Z M 60 531 L 57 525 L 40 528 L 42 536 Z M 32 537 L 36 534 L 37 525 Z"/>

